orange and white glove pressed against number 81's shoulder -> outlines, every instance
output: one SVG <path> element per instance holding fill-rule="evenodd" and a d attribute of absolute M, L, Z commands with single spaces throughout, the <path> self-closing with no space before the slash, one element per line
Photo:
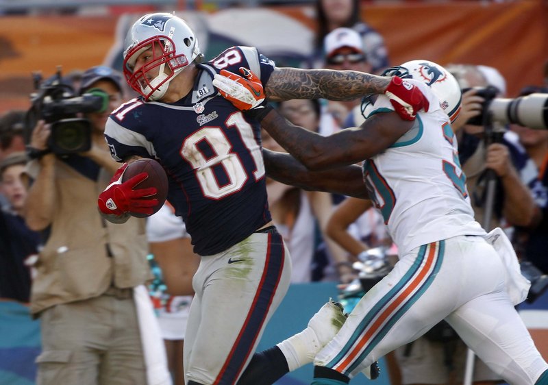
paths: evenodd
<path fill-rule="evenodd" d="M 249 69 L 240 67 L 240 73 L 243 77 L 223 69 L 215 74 L 213 85 L 238 110 L 251 110 L 264 102 L 264 88 L 260 79 Z"/>

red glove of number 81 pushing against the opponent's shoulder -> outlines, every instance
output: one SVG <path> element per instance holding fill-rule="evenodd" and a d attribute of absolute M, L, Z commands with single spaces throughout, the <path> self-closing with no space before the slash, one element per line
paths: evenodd
<path fill-rule="evenodd" d="M 392 78 L 384 95 L 390 99 L 399 117 L 405 121 L 414 120 L 419 110 L 424 109 L 428 112 L 430 106 L 419 88 L 397 76 Z"/>

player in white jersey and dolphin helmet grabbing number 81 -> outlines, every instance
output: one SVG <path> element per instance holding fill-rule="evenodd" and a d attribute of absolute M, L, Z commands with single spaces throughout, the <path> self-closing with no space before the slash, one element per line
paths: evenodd
<path fill-rule="evenodd" d="M 259 113 L 262 127 L 302 163 L 288 154 L 265 156 L 267 173 L 280 182 L 357 195 L 346 187 L 350 181 L 339 178 L 338 188 L 334 180 L 326 186 L 317 171 L 363 161 L 364 195 L 384 216 L 400 250 L 394 269 L 316 355 L 312 384 L 347 384 L 442 319 L 510 384 L 548 384 L 548 364 L 514 309 L 530 282 L 503 232 L 487 234 L 474 219 L 451 129 L 460 108 L 458 83 L 427 60 L 407 62 L 390 74 L 408 78 L 429 99 L 428 111 L 415 121 L 400 119 L 382 95 L 360 127 L 328 137 L 291 125 L 264 103 L 247 112 Z M 255 80 L 252 73 L 217 75 L 214 84 L 238 103 L 246 94 L 238 84 L 256 86 Z M 316 172 L 307 173 L 303 165 Z"/>

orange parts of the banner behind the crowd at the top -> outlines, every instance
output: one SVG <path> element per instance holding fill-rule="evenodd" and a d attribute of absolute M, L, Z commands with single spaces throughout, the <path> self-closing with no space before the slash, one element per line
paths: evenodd
<path fill-rule="evenodd" d="M 297 21 L 306 31 L 314 27 L 310 6 L 267 11 Z M 207 20 L 220 12 L 201 16 Z M 269 12 L 262 17 L 269 18 Z M 493 66 L 506 77 L 509 97 L 515 97 L 523 86 L 543 84 L 548 12 L 542 0 L 366 3 L 363 16 L 384 36 L 391 64 L 428 59 L 439 64 Z M 114 39 L 117 21 L 114 15 L 2 16 L 0 112 L 28 107 L 33 71 L 49 76 L 58 65 L 68 73 L 103 63 L 118 41 Z M 261 25 L 260 20 L 256 23 Z M 276 33 L 264 31 L 270 37 Z"/>

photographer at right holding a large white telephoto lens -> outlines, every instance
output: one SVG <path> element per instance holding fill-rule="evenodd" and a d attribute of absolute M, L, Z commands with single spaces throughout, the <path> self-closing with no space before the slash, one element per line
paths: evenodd
<path fill-rule="evenodd" d="M 534 203 L 527 186 L 521 182 L 519 171 L 514 166 L 519 164 L 519 159 L 516 159 L 519 151 L 516 151 L 512 142 L 508 140 L 505 134 L 506 127 L 495 122 L 493 132 L 486 133 L 484 122 L 479 119 L 484 113 L 486 101 L 480 90 L 493 87 L 495 84 L 490 84 L 484 77 L 484 72 L 479 71 L 477 66 L 453 64 L 448 66 L 448 70 L 453 73 L 464 91 L 462 111 L 453 123 L 453 131 L 458 137 L 460 163 L 466 175 L 466 185 L 471 195 L 475 218 L 479 223 L 486 222 L 484 212 L 486 182 L 489 176 L 487 170 L 492 170 L 497 179 L 497 189 L 494 215 L 491 216 L 486 231 L 495 227 L 527 225 L 532 220 Z M 501 95 L 503 90 L 500 88 L 503 88 L 503 85 L 497 83 L 496 88 L 497 90 L 490 90 Z"/>

